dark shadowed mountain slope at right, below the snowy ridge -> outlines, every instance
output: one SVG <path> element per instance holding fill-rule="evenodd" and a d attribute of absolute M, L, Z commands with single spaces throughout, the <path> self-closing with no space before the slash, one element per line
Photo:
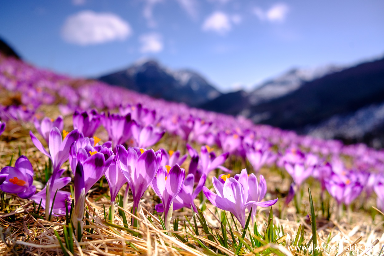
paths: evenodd
<path fill-rule="evenodd" d="M 292 93 L 250 109 L 250 117 L 298 130 L 336 114 L 384 102 L 384 59 L 362 63 L 303 84 Z"/>

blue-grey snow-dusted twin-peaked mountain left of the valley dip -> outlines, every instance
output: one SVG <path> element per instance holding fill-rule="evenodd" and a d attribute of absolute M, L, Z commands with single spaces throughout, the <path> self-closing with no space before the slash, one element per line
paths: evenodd
<path fill-rule="evenodd" d="M 202 76 L 193 71 L 172 71 L 153 60 L 101 76 L 100 81 L 169 101 L 199 106 L 221 95 Z"/>

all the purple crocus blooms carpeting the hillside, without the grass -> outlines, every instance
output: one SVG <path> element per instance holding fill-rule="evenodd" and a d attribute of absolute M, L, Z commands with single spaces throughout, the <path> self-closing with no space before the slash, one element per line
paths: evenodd
<path fill-rule="evenodd" d="M 81 86 L 73 86 L 74 84 Z M 184 140 L 183 144 L 188 142 L 203 146 L 199 146 L 200 152 L 197 152 L 190 144 L 187 145 L 190 157 L 188 175 L 184 180 L 178 180 L 177 189 L 180 187 L 180 190 L 177 195 L 172 194 L 172 200 L 165 199 L 164 191 L 156 192 L 160 198 L 164 198 L 156 206 L 158 211 L 169 211 L 166 209 L 168 205 L 173 205 L 173 209 L 192 206 L 196 210 L 194 199 L 203 189 L 210 172 L 216 168 L 230 172 L 223 167 L 228 158 L 249 162 L 254 172 L 259 172 L 262 167 L 272 166 L 286 170 L 293 180 L 290 197 L 303 187 L 307 178 L 312 177 L 318 180 L 322 190 L 328 191 L 339 205 L 351 205 L 361 194 L 361 198 L 376 194 L 377 206 L 383 208 L 383 150 L 374 150 L 363 144 L 343 145 L 337 140 L 317 139 L 270 126 L 255 125 L 244 117 L 203 111 L 185 104 L 153 99 L 98 81 L 62 76 L 1 54 L 0 86 L 4 91 L 21 95 L 17 102 L 0 106 L 0 134 L 5 129 L 5 122 L 13 120 L 25 123 L 31 122 L 35 116 L 41 117 L 39 107 L 43 105 L 58 104 L 63 115 L 57 119 L 44 117 L 41 121 L 33 121 L 37 132 L 47 144 L 35 136 L 36 132 L 30 133 L 36 148 L 52 162 L 52 177 L 44 188 L 47 191 L 46 197 L 42 195 L 43 190 L 38 192 L 41 194 L 33 196 L 46 201 L 46 206 L 43 206 L 46 210 L 52 201 L 51 194 L 56 193 L 56 190 L 56 197 L 61 202 L 63 199 L 64 202 L 70 201 L 66 193 L 60 192 L 68 180 L 63 179 L 68 177 L 61 177 L 61 168 L 69 159 L 75 177 L 77 169 L 78 173 L 83 170 L 83 174 L 78 177 L 83 177 L 84 188 L 81 180 L 76 181 L 79 184 L 77 187 L 81 188 L 78 192 L 84 189 L 86 194 L 99 177 L 105 175 L 110 187 L 111 201 L 124 183 L 127 183 L 126 191 L 132 192 L 136 211 L 149 186 L 154 188 L 156 185 L 164 185 L 166 190 L 167 182 L 161 183 L 164 180 L 159 177 L 164 175 L 164 179 L 168 179 L 168 175 L 173 175 L 174 172 L 182 173 L 182 168 L 179 170 L 177 164 L 180 166 L 187 155 L 169 149 L 158 150 L 157 143 L 165 132 L 178 136 Z M 113 113 L 114 109 L 119 109 L 119 113 Z M 63 130 L 63 118 L 71 114 L 74 129 L 67 132 Z M 108 141 L 104 141 L 102 145 L 99 145 L 101 140 L 98 137 L 93 137 L 100 125 L 104 126 L 108 134 Z M 67 130 L 69 131 L 68 128 Z M 44 145 L 48 145 L 48 150 Z M 222 154 L 216 155 L 212 149 L 220 150 Z M 11 172 L 14 176 L 8 177 Z M 225 175 L 214 180 L 216 194 L 204 188 L 205 195 L 212 203 L 231 209 L 234 214 L 236 212 L 235 216 L 240 223 L 243 223 L 245 209 L 252 207 L 254 211 L 256 206 L 263 206 L 260 200 L 265 195 L 263 191 L 266 186 L 262 176 L 257 182 L 256 176 L 250 174 L 247 178 L 248 184 L 257 183 L 258 189 L 261 189 L 257 192 L 257 197 L 253 187 L 244 187 L 243 173 L 246 172 L 242 171 L 239 176 Z M 19 165 L 8 167 L 4 173 L 0 173 L 0 183 L 3 182 L 0 189 L 26 197 L 26 193 L 33 190 L 28 175 L 32 176 L 33 173 Z M 236 191 L 243 192 L 241 195 L 236 194 L 236 198 L 242 203 L 235 203 L 230 197 L 222 197 L 224 191 L 225 195 L 234 196 Z M 79 194 L 83 195 L 83 192 Z M 321 197 L 322 195 L 323 193 Z M 38 199 L 34 198 L 35 201 L 40 201 Z M 57 207 L 55 202 L 54 213 L 63 212 Z"/>

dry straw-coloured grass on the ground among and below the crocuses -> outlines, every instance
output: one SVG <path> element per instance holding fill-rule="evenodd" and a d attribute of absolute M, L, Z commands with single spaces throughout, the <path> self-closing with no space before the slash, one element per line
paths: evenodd
<path fill-rule="evenodd" d="M 58 111 L 55 108 L 42 109 L 47 116 L 55 117 Z M 44 182 L 42 169 L 46 162 L 46 157 L 41 154 L 32 144 L 29 137 L 29 130 L 34 130 L 31 124 L 18 124 L 16 122 L 8 122 L 7 130 L 1 137 L 0 141 L 0 167 L 7 166 L 13 157 L 13 162 L 20 154 L 26 155 L 32 162 L 33 168 L 36 172 L 36 180 Z M 65 129 L 71 130 L 71 117 L 65 118 Z M 37 133 L 35 132 L 35 135 Z M 107 135 L 103 129 L 98 131 L 98 136 L 106 139 Z M 164 147 L 166 149 L 180 149 L 182 152 L 184 144 L 180 143 L 177 138 L 166 137 L 157 145 L 157 147 Z M 249 165 L 249 164 L 248 164 Z M 184 164 L 187 167 L 188 164 Z M 247 163 L 237 159 L 232 159 L 227 163 L 227 167 L 237 167 L 239 172 Z M 67 173 L 71 175 L 71 173 Z M 290 181 L 288 178 L 283 179 L 279 172 L 269 169 L 263 169 L 262 174 L 265 176 L 268 184 L 267 200 L 282 197 L 288 191 Z M 208 179 L 210 180 L 210 179 Z M 210 182 L 207 182 L 207 185 Z M 209 185 L 208 185 L 209 186 Z M 319 195 L 319 185 L 313 180 L 309 180 L 306 186 L 312 189 L 313 197 L 316 200 Z M 69 191 L 69 187 L 66 187 Z M 122 189 L 124 191 L 124 189 Z M 97 199 L 97 200 L 96 200 Z M 197 229 L 199 235 L 195 234 L 195 226 L 190 209 L 183 209 L 182 211 L 174 211 L 173 218 L 179 218 L 179 228 L 177 231 L 172 231 L 169 236 L 167 232 L 162 229 L 159 216 L 154 212 L 154 206 L 159 202 L 158 198 L 152 190 L 148 190 L 141 201 L 141 209 L 139 210 L 139 228 L 133 230 L 130 226 L 124 228 L 123 220 L 118 213 L 119 206 L 115 207 L 115 219 L 113 225 L 104 219 L 104 205 L 109 208 L 108 188 L 104 179 L 104 184 L 100 187 L 96 184 L 91 193 L 88 194 L 86 206 L 88 206 L 87 221 L 89 225 L 84 226 L 84 230 L 93 229 L 93 233 L 84 232 L 83 239 L 78 242 L 74 239 L 73 254 L 74 255 L 216 255 L 227 254 L 235 255 L 233 248 L 223 247 L 216 235 L 222 236 L 220 228 L 221 210 L 212 206 L 209 202 L 203 202 L 202 206 L 205 208 L 203 211 L 207 225 L 210 228 L 210 233 L 213 235 L 211 241 L 209 234 L 204 232 L 202 224 L 197 220 Z M 129 198 L 132 201 L 132 198 Z M 46 221 L 32 215 L 34 205 L 31 201 L 20 200 L 11 195 L 5 195 L 5 205 L 2 205 L 0 210 L 0 255 L 60 255 L 62 249 L 58 238 L 55 236 L 55 231 L 60 235 L 61 243 L 65 244 L 63 236 L 63 229 L 65 228 L 65 217 L 59 217 L 56 221 Z M 196 201 L 199 204 L 199 201 Z M 336 212 L 334 201 L 330 201 L 330 212 Z M 206 207 L 205 207 L 206 203 Z M 295 251 L 288 248 L 295 240 L 299 226 L 303 225 L 305 230 L 305 243 L 308 243 L 312 237 L 311 222 L 309 217 L 309 201 L 308 197 L 303 198 L 301 206 L 301 213 L 296 213 L 295 207 L 291 204 L 286 211 L 284 219 L 280 219 L 279 210 L 283 206 L 283 200 L 279 200 L 278 204 L 273 206 L 275 217 L 273 223 L 275 226 L 281 226 L 284 233 L 281 231 L 279 236 L 281 239 L 279 243 L 268 243 L 253 251 L 244 249 L 243 254 L 265 255 L 266 251 L 270 250 L 270 254 L 276 255 L 303 255 L 302 251 Z M 384 241 L 383 234 L 383 214 L 378 210 L 372 209 L 373 201 L 364 202 L 363 205 L 356 203 L 352 212 L 350 220 L 347 216 L 343 216 L 340 221 L 336 221 L 335 216 L 331 215 L 330 220 L 326 220 L 321 213 L 321 205 L 315 201 L 315 210 L 318 231 L 318 241 L 321 245 L 328 246 L 348 246 L 356 241 L 356 249 L 345 251 L 346 255 L 359 255 L 364 249 L 361 246 L 368 248 L 376 241 L 380 241 L 376 246 L 367 251 L 366 255 L 378 256 Z M 364 210 L 365 207 L 365 210 Z M 36 207 L 37 208 L 37 207 Z M 121 208 L 120 208 L 121 209 Z M 130 209 L 130 206 L 128 207 Z M 131 218 L 131 213 L 124 209 L 127 219 Z M 260 233 L 266 230 L 268 225 L 268 211 L 269 209 L 261 209 L 256 219 L 257 227 Z M 371 214 L 376 212 L 376 216 L 372 220 Z M 43 215 L 41 209 L 40 214 Z M 228 215 L 228 213 L 227 213 Z M 149 221 L 148 217 L 151 217 Z M 236 228 L 232 219 L 229 217 L 229 223 L 235 236 L 241 236 L 241 231 L 235 231 Z M 188 219 L 188 220 L 187 220 Z M 192 223 L 192 225 L 189 224 Z M 130 223 L 128 221 L 128 223 Z M 238 225 L 238 224 L 237 224 Z M 133 232 L 134 231 L 134 232 Z M 136 233 L 137 232 L 137 233 Z M 177 234 L 176 237 L 173 234 Z M 230 230 L 227 226 L 228 241 L 232 243 L 232 237 L 229 235 Z M 179 237 L 187 241 L 181 241 Z M 237 239 L 237 238 L 236 238 Z M 361 239 L 361 240 L 360 240 Z M 251 245 L 249 234 L 245 237 L 244 242 Z M 269 248 L 269 249 L 268 249 Z M 343 254 L 343 249 L 329 249 L 323 251 L 323 255 L 336 256 Z M 70 251 L 66 251 L 68 255 L 72 255 Z M 308 254 L 308 253 L 307 253 Z"/>

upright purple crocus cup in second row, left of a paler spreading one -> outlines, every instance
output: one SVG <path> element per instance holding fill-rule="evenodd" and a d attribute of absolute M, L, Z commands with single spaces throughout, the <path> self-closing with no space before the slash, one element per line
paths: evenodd
<path fill-rule="evenodd" d="M 112 141 L 112 147 L 115 149 L 117 145 L 123 144 L 132 137 L 132 121 L 131 114 L 121 116 L 119 114 L 109 114 L 103 116 L 103 125 L 108 132 L 109 139 Z"/>

